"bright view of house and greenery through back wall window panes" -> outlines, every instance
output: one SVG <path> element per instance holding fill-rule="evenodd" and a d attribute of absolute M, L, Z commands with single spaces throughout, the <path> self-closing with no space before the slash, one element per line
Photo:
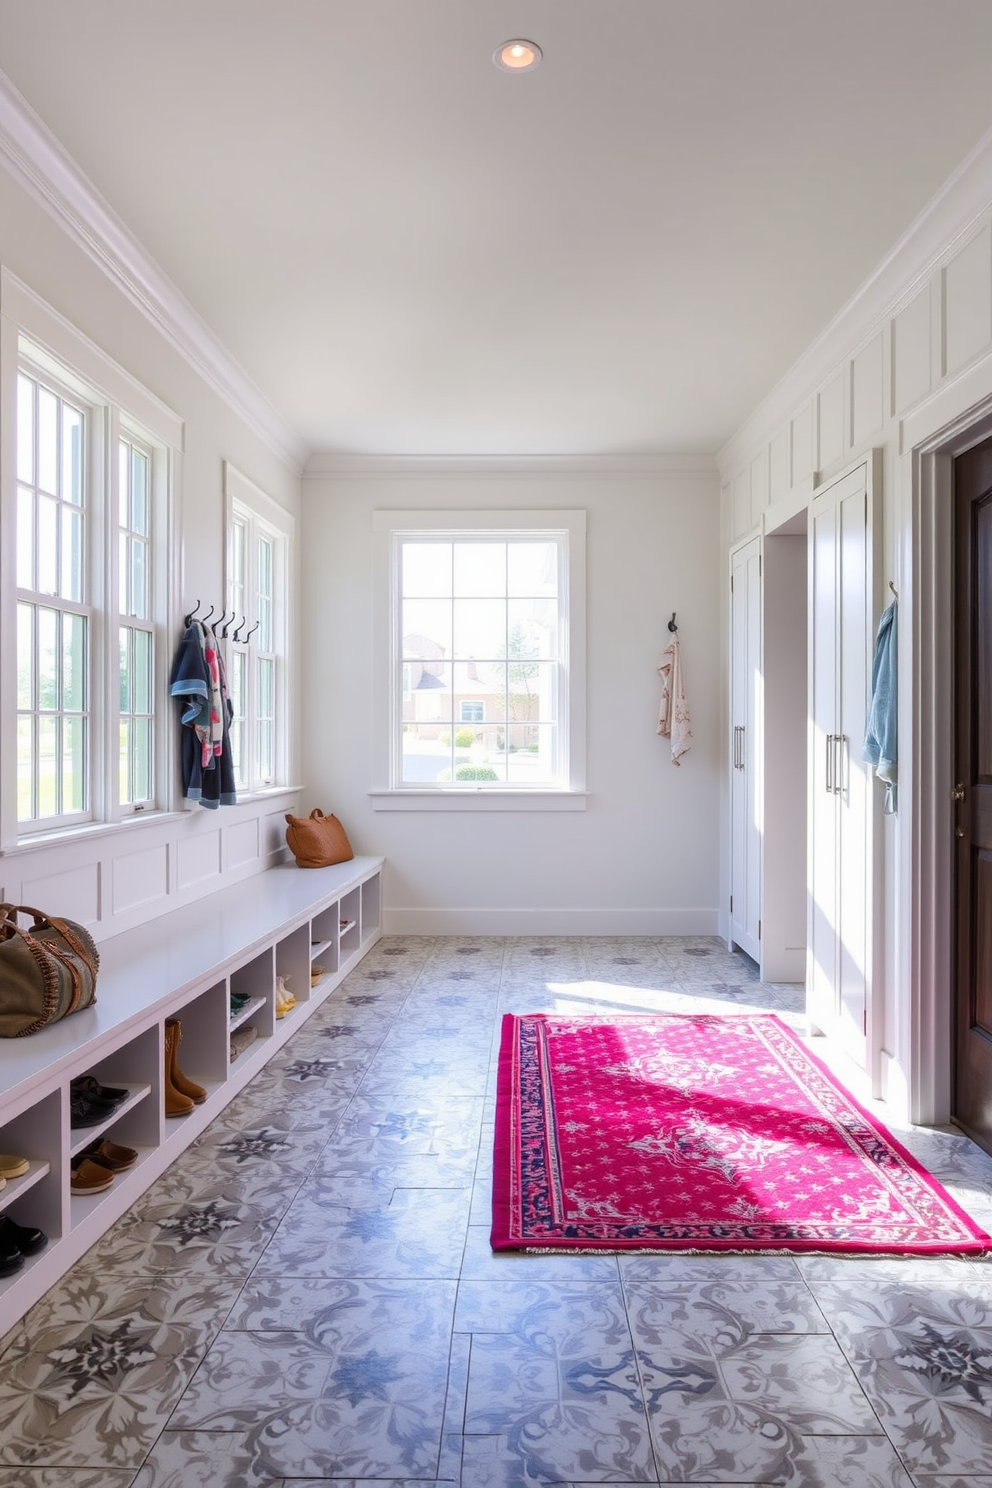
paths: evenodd
<path fill-rule="evenodd" d="M 556 787 L 562 534 L 399 537 L 400 783 Z"/>

